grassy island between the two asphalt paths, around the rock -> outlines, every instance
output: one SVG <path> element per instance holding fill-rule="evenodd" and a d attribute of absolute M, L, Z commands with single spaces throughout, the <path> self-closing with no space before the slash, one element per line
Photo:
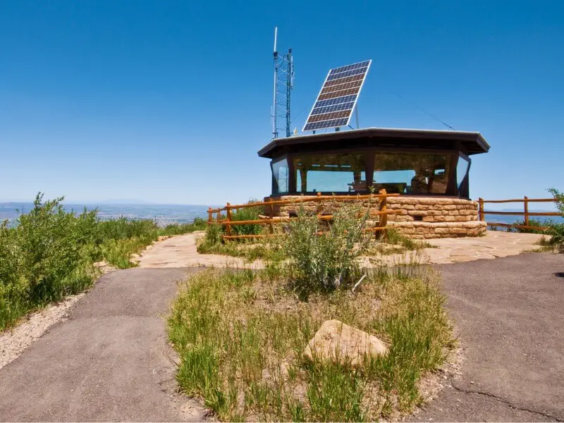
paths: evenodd
<path fill-rule="evenodd" d="M 177 379 L 222 420 L 368 421 L 409 412 L 418 382 L 446 360 L 453 338 L 439 279 L 427 268 L 374 272 L 362 291 L 307 300 L 285 271 L 205 271 L 183 286 L 168 319 Z M 353 368 L 309 361 L 321 324 L 338 319 L 390 345 Z"/>

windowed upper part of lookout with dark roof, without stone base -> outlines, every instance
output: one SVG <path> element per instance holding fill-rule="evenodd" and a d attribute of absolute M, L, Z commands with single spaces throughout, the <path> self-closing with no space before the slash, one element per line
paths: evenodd
<path fill-rule="evenodd" d="M 488 150 L 480 133 L 366 128 L 275 138 L 258 154 L 271 159 L 272 195 L 355 195 L 374 187 L 470 198 L 470 156 Z"/>

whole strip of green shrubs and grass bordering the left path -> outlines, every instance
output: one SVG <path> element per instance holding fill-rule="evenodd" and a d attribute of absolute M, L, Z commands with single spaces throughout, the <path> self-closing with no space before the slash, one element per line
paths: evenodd
<path fill-rule="evenodd" d="M 63 197 L 44 201 L 39 193 L 16 226 L 0 224 L 0 331 L 27 312 L 90 287 L 99 276 L 94 262 L 135 266 L 130 256 L 159 236 L 206 224 L 200 219 L 159 228 L 153 221 L 125 217 L 100 221 L 97 210 L 66 212 L 62 202 Z"/>

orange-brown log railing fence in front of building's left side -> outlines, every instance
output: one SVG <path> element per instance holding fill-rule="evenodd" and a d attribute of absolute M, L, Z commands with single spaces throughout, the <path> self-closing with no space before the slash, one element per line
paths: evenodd
<path fill-rule="evenodd" d="M 317 219 L 319 220 L 331 220 L 333 219 L 332 214 L 321 214 L 321 202 L 337 200 L 339 202 L 355 202 L 359 200 L 380 200 L 378 212 L 372 212 L 371 215 L 381 216 L 379 219 L 378 226 L 374 228 L 367 228 L 366 231 L 376 232 L 384 231 L 388 223 L 388 214 L 400 214 L 401 210 L 390 210 L 386 206 L 388 197 L 398 197 L 399 194 L 388 194 L 386 190 L 380 190 L 378 194 L 368 194 L 368 195 L 321 195 L 321 192 L 317 196 L 302 196 L 298 198 L 293 198 L 290 200 L 272 200 L 267 199 L 264 202 L 252 202 L 247 204 L 230 204 L 227 203 L 225 207 L 219 209 L 212 209 L 211 207 L 207 210 L 208 213 L 208 223 L 219 223 L 225 226 L 225 235 L 223 235 L 224 240 L 236 240 L 236 239 L 246 239 L 246 238 L 264 238 L 268 236 L 274 236 L 274 223 L 287 223 L 291 219 L 290 217 L 278 217 L 274 216 L 274 206 L 288 205 L 288 204 L 300 204 L 300 202 L 319 202 L 317 207 Z M 266 219 L 257 220 L 246 220 L 246 221 L 234 221 L 233 220 L 233 210 L 244 209 L 246 207 L 259 207 L 264 206 L 264 211 L 266 213 Z M 222 214 L 225 212 L 225 214 Z M 214 218 L 215 215 L 215 218 Z M 222 219 L 224 217 L 225 219 Z M 232 226 L 236 225 L 268 225 L 269 234 L 267 235 L 233 235 Z"/>

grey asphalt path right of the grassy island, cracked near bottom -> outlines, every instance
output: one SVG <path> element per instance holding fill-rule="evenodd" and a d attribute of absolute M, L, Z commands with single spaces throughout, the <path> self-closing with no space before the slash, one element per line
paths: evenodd
<path fill-rule="evenodd" d="M 411 421 L 564 421 L 564 255 L 438 266 L 465 360 Z"/>

